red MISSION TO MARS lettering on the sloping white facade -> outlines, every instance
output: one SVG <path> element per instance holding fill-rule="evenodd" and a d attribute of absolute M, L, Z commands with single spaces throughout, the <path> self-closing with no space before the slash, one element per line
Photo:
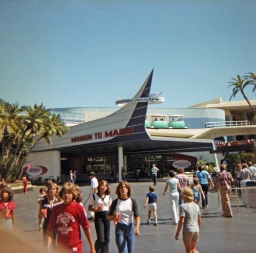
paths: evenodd
<path fill-rule="evenodd" d="M 72 137 L 71 142 L 91 141 L 96 139 L 103 139 L 103 138 L 115 137 L 115 136 L 132 134 L 132 133 L 134 133 L 134 127 L 126 127 L 121 129 L 114 129 L 114 130 L 108 130 L 103 132 L 90 133 L 90 134 Z"/>

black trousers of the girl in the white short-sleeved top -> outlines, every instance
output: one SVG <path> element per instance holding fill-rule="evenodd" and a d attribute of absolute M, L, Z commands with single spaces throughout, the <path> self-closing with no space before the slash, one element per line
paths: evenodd
<path fill-rule="evenodd" d="M 109 253 L 111 222 L 108 220 L 108 214 L 108 211 L 95 212 L 94 224 L 97 234 L 95 250 L 97 253 Z"/>

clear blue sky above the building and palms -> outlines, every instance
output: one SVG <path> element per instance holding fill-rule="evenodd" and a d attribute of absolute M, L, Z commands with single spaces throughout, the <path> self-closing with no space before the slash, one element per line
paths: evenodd
<path fill-rule="evenodd" d="M 154 68 L 154 107 L 228 101 L 231 78 L 256 72 L 255 26 L 254 0 L 0 0 L 0 98 L 115 107 Z"/>

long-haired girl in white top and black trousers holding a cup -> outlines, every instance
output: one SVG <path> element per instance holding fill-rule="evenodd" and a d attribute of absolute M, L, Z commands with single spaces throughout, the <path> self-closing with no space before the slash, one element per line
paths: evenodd
<path fill-rule="evenodd" d="M 109 253 L 110 220 L 108 214 L 112 199 L 107 181 L 102 180 L 97 187 L 98 192 L 90 197 L 88 210 L 95 212 L 94 223 L 97 234 L 95 250 L 97 253 Z"/>

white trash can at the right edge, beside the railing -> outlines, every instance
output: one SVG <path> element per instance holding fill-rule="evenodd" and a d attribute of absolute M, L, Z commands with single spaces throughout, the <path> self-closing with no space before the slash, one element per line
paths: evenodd
<path fill-rule="evenodd" d="M 256 206 L 256 181 L 242 180 L 241 188 L 243 205 Z"/>

